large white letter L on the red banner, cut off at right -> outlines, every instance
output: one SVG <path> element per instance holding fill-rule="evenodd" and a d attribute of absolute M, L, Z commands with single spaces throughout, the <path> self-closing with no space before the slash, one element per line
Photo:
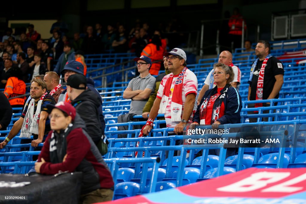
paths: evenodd
<path fill-rule="evenodd" d="M 290 185 L 300 183 L 304 180 L 306 180 L 306 173 L 304 173 L 304 174 L 302 174 L 302 175 L 300 175 L 300 176 L 298 176 L 294 179 L 286 181 L 284 183 L 281 183 L 281 184 L 272 186 L 270 188 L 264 189 L 262 192 L 289 192 L 289 193 L 292 193 L 292 192 L 295 192 L 295 191 L 300 191 L 300 190 L 303 189 L 303 187 L 293 187 L 293 186 L 290 186 Z"/>

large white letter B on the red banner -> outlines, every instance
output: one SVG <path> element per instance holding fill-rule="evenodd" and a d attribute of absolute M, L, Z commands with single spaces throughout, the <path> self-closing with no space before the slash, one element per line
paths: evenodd
<path fill-rule="evenodd" d="M 217 188 L 217 191 L 225 192 L 248 192 L 267 186 L 277 181 L 280 181 L 290 175 L 290 172 L 258 172 L 253 173 L 248 178 L 245 178 L 228 186 Z M 262 180 L 264 179 L 264 180 Z"/>

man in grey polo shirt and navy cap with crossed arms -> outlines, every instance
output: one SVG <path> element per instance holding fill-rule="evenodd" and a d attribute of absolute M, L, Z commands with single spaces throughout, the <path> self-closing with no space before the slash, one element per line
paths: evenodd
<path fill-rule="evenodd" d="M 152 61 L 149 57 L 141 56 L 134 58 L 139 76 L 133 78 L 123 92 L 123 98 L 132 99 L 129 113 L 141 115 L 146 102 L 154 91 L 155 77 L 149 73 Z"/>

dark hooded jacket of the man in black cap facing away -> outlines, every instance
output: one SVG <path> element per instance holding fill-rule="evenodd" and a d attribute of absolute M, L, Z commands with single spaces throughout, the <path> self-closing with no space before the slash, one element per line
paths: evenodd
<path fill-rule="evenodd" d="M 71 101 L 71 105 L 76 108 L 76 112 L 80 114 L 85 122 L 88 135 L 96 144 L 102 137 L 102 127 L 98 111 L 99 106 L 102 104 L 100 98 L 93 91 L 87 89 Z"/>

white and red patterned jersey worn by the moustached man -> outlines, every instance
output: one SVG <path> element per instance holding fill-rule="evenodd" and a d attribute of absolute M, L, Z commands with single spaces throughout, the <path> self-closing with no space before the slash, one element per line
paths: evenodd
<path fill-rule="evenodd" d="M 159 85 L 159 89 L 157 92 L 156 97 L 159 99 L 162 99 L 162 95 L 164 92 L 164 87 L 166 84 L 166 81 L 168 80 L 170 74 L 164 76 L 164 78 L 162 79 L 160 85 Z M 173 80 L 172 80 L 172 84 L 171 84 L 171 88 L 170 88 L 170 94 L 169 94 L 169 99 L 168 99 L 168 103 L 166 106 L 166 113 L 165 113 L 165 120 L 166 120 L 166 125 L 168 128 L 174 128 L 177 124 L 179 124 L 180 122 L 171 122 L 171 101 L 172 101 L 172 93 L 173 93 L 173 89 L 174 89 L 174 84 L 175 81 L 177 79 L 178 75 L 174 75 L 173 76 Z M 197 88 L 198 88 L 198 80 L 196 78 L 196 75 L 190 71 L 189 69 L 186 70 L 185 76 L 184 76 L 184 84 L 182 86 L 182 112 L 181 112 L 181 116 L 183 115 L 183 111 L 184 111 L 184 104 L 186 101 L 186 96 L 188 94 L 197 94 Z M 161 103 L 166 103 L 166 101 L 161 101 Z M 193 106 L 193 111 L 196 111 L 196 103 Z M 191 114 L 190 118 L 189 118 L 189 122 L 192 122 L 192 117 L 193 117 L 193 113 Z"/>

